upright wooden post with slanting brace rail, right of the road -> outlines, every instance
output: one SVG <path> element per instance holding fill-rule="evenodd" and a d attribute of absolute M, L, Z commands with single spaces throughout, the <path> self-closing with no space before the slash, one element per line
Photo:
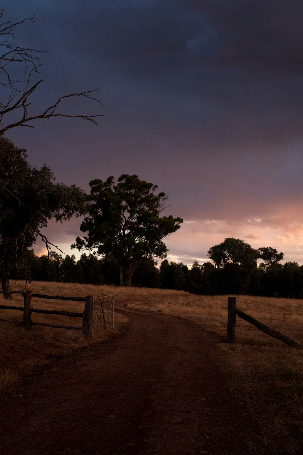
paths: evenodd
<path fill-rule="evenodd" d="M 294 341 L 291 338 L 288 338 L 286 335 L 277 332 L 276 330 L 271 329 L 265 324 L 262 324 L 257 319 L 249 316 L 247 313 L 244 313 L 237 308 L 237 297 L 228 297 L 228 318 L 227 318 L 227 341 L 228 343 L 233 343 L 236 341 L 236 318 L 237 316 L 249 324 L 254 325 L 257 329 L 261 330 L 265 334 L 282 341 L 288 346 L 295 348 L 303 348 L 300 344 Z"/>

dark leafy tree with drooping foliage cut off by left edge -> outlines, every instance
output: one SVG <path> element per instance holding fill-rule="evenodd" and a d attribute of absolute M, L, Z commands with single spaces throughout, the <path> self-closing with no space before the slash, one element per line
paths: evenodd
<path fill-rule="evenodd" d="M 9 290 L 14 268 L 19 277 L 27 278 L 25 252 L 38 236 L 50 248 L 40 229 L 51 218 L 64 222 L 85 212 L 81 188 L 55 183 L 50 168 L 31 167 L 25 152 L 0 136 L 0 279 L 4 291 Z"/>

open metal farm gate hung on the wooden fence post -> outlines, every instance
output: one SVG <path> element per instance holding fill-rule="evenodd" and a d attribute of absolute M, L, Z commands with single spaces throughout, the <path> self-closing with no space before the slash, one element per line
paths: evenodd
<path fill-rule="evenodd" d="M 114 327 L 114 296 L 94 298 L 93 336 L 112 327 Z"/>

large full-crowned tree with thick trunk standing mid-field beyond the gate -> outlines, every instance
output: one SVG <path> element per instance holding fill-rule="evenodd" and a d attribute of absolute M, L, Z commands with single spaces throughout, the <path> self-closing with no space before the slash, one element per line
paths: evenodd
<path fill-rule="evenodd" d="M 71 247 L 97 249 L 101 256 L 114 256 L 119 263 L 120 285 L 130 286 L 134 270 L 142 261 L 165 258 L 168 249 L 162 238 L 179 229 L 182 218 L 160 217 L 168 197 L 155 194 L 157 186 L 139 180 L 137 175 L 123 174 L 114 182 L 92 180 L 88 216 L 80 229 L 87 233 L 77 237 Z"/>

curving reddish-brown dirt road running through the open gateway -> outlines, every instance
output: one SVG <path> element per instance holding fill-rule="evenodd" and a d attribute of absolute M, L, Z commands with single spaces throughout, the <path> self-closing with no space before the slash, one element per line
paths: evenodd
<path fill-rule="evenodd" d="M 120 335 L 56 361 L 0 403 L 1 455 L 251 453 L 258 426 L 230 397 L 213 337 L 125 309 Z"/>

